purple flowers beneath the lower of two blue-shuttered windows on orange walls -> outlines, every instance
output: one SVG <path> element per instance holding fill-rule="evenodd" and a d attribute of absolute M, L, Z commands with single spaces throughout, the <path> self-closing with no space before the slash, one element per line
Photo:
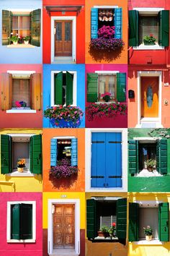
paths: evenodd
<path fill-rule="evenodd" d="M 71 161 L 67 158 L 63 158 L 61 161 L 58 161 L 57 166 L 52 166 L 50 168 L 50 176 L 54 178 L 69 178 L 72 175 L 77 174 L 79 168 L 77 166 L 71 166 Z"/>

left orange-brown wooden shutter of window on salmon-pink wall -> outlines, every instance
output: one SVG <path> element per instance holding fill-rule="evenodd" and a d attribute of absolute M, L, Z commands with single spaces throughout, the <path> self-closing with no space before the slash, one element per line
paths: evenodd
<path fill-rule="evenodd" d="M 12 74 L 1 74 L 1 110 L 12 108 Z"/>

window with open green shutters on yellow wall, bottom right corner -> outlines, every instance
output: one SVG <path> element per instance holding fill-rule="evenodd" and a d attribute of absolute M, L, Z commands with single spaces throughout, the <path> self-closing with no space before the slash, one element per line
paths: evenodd
<path fill-rule="evenodd" d="M 143 227 L 151 226 L 153 240 L 169 241 L 169 202 L 130 202 L 129 241 L 145 239 Z"/>

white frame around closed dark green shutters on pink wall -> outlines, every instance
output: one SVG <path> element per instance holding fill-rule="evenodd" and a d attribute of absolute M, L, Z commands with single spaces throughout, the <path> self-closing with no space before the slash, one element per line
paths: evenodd
<path fill-rule="evenodd" d="M 32 205 L 32 239 L 17 240 L 11 239 L 11 207 L 16 204 L 30 204 Z M 7 216 L 6 216 L 6 242 L 7 243 L 35 243 L 36 242 L 36 202 L 35 201 L 13 201 L 7 202 Z"/>

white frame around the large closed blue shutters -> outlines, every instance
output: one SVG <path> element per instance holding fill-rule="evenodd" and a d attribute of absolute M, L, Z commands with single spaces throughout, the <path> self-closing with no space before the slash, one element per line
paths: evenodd
<path fill-rule="evenodd" d="M 94 128 L 86 129 L 86 144 L 85 144 L 85 192 L 127 192 L 128 191 L 128 129 L 126 128 Z M 91 187 L 91 134 L 92 132 L 121 132 L 122 133 L 122 187 L 112 188 L 95 188 Z"/>

